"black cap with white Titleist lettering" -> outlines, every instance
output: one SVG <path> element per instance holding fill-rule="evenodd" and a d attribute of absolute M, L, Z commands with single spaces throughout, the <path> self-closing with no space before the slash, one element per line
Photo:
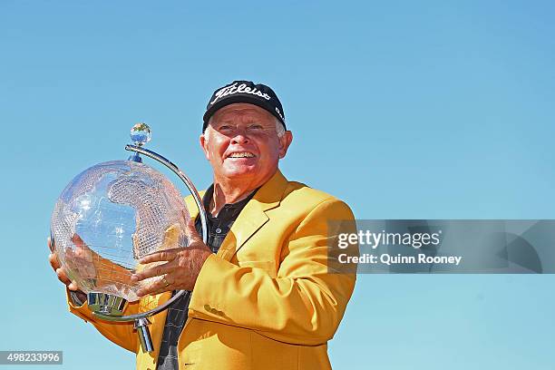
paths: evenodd
<path fill-rule="evenodd" d="M 276 93 L 269 86 L 262 83 L 255 84 L 252 81 L 234 81 L 224 87 L 220 87 L 212 94 L 203 116 L 204 124 L 202 125 L 202 132 L 206 130 L 212 114 L 220 108 L 235 102 L 248 102 L 249 104 L 258 105 L 275 116 L 279 122 L 283 123 L 283 127 L 287 130 L 285 113 L 283 112 L 281 102 L 279 102 Z"/>

